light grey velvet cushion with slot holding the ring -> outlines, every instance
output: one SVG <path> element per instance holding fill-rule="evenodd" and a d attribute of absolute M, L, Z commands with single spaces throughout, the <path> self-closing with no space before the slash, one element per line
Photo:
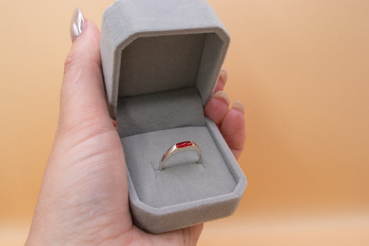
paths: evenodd
<path fill-rule="evenodd" d="M 195 163 L 196 152 L 182 152 L 159 170 L 163 153 L 174 143 L 188 139 L 201 148 L 202 164 Z M 232 193 L 237 186 L 238 178 L 231 173 L 206 125 L 147 132 L 121 140 L 138 199 L 150 207 L 205 200 Z"/>

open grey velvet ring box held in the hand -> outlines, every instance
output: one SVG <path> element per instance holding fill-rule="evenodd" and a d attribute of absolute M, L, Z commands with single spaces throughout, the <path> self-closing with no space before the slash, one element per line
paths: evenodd
<path fill-rule="evenodd" d="M 246 177 L 204 116 L 229 36 L 204 0 L 119 0 L 105 10 L 100 50 L 109 111 L 125 151 L 134 225 L 161 233 L 230 216 Z M 194 141 L 203 152 L 168 148 Z"/>

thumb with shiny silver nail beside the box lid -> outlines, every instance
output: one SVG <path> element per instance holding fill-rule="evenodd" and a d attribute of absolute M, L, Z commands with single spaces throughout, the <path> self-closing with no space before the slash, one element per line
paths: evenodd
<path fill-rule="evenodd" d="M 114 129 L 105 100 L 100 32 L 92 21 L 84 19 L 80 9 L 73 15 L 71 28 L 73 46 L 64 65 L 57 132 Z"/>

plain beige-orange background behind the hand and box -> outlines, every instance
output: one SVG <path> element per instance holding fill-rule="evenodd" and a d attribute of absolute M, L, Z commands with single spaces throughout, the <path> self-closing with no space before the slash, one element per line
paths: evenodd
<path fill-rule="evenodd" d="M 72 12 L 100 27 L 112 2 L 0 0 L 0 245 L 28 234 Z M 246 108 L 249 185 L 199 245 L 369 245 L 369 1 L 210 4 L 232 38 L 226 92 Z"/>

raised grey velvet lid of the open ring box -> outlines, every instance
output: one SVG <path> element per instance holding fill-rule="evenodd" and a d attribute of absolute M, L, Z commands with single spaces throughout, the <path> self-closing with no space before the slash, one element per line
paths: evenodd
<path fill-rule="evenodd" d="M 186 87 L 205 105 L 230 41 L 213 8 L 198 0 L 116 1 L 105 10 L 101 37 L 112 118 L 120 97 Z"/>

